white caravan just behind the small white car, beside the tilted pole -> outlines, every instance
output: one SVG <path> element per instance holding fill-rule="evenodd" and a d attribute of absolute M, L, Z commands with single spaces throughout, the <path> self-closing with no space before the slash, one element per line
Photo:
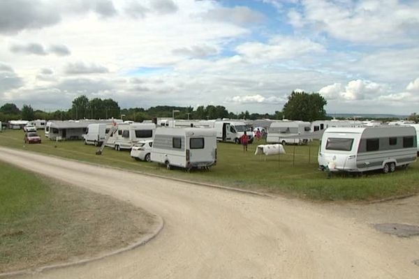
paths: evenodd
<path fill-rule="evenodd" d="M 108 127 L 110 128 L 110 126 Z M 120 123 L 118 130 L 110 135 L 106 146 L 115 150 L 131 149 L 137 142 L 153 140 L 156 124 L 154 123 Z"/>

